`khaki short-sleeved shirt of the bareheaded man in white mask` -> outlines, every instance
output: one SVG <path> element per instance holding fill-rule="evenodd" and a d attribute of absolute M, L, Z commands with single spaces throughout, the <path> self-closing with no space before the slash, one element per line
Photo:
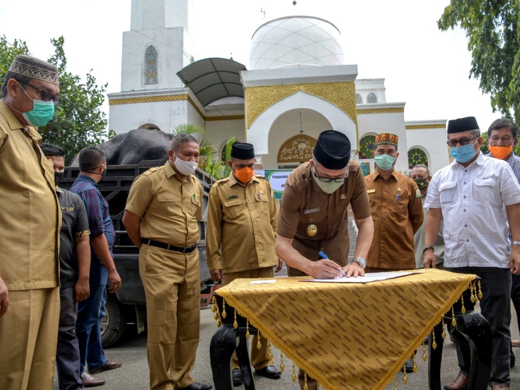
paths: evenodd
<path fill-rule="evenodd" d="M 166 161 L 136 177 L 125 209 L 141 217 L 141 237 L 190 246 L 199 239 L 202 185 L 193 175 L 180 181 Z"/>

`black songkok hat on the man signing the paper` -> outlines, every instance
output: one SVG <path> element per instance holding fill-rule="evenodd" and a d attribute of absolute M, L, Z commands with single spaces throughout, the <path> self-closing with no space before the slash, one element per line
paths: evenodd
<path fill-rule="evenodd" d="M 335 130 L 322 132 L 316 140 L 314 157 L 329 170 L 341 170 L 350 160 L 350 141 L 348 137 Z"/>

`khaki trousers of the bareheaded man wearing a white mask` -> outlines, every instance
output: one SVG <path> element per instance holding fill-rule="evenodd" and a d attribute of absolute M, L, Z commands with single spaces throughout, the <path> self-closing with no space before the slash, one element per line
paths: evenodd
<path fill-rule="evenodd" d="M 146 294 L 150 388 L 189 386 L 199 345 L 199 252 L 142 245 L 139 274 Z"/>

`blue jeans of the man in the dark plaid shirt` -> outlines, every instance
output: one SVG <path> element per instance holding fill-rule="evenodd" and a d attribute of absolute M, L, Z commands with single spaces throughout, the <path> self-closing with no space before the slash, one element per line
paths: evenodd
<path fill-rule="evenodd" d="M 99 262 L 90 263 L 90 296 L 77 305 L 76 335 L 80 345 L 80 374 L 107 363 L 101 346 L 101 318 L 107 302 L 108 270 Z"/>

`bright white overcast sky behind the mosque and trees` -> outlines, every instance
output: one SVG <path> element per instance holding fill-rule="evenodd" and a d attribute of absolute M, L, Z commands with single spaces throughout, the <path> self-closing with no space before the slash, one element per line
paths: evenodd
<path fill-rule="evenodd" d="M 387 102 L 406 102 L 405 120 L 455 119 L 473 115 L 482 131 L 499 118 L 489 97 L 469 80 L 471 55 L 461 30 L 441 32 L 437 20 L 449 0 L 195 0 L 190 37 L 194 58 L 229 58 L 249 66 L 251 35 L 259 24 L 288 15 L 329 20 L 341 31 L 345 60 L 358 79 L 384 78 Z M 121 43 L 130 28 L 131 0 L 36 0 L 0 2 L 7 40 L 27 42 L 43 59 L 49 40 L 63 35 L 68 70 L 90 69 L 108 93 L 120 92 Z M 261 8 L 266 9 L 263 19 Z M 108 117 L 108 103 L 103 109 Z"/>

